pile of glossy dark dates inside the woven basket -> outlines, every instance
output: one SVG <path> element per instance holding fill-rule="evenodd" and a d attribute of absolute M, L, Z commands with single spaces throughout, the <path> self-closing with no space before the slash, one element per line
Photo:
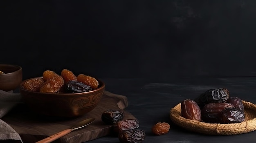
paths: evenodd
<path fill-rule="evenodd" d="M 181 103 L 181 114 L 186 119 L 206 123 L 241 123 L 245 121 L 244 105 L 239 97 L 229 95 L 225 88 L 210 89 L 194 100 Z"/>

